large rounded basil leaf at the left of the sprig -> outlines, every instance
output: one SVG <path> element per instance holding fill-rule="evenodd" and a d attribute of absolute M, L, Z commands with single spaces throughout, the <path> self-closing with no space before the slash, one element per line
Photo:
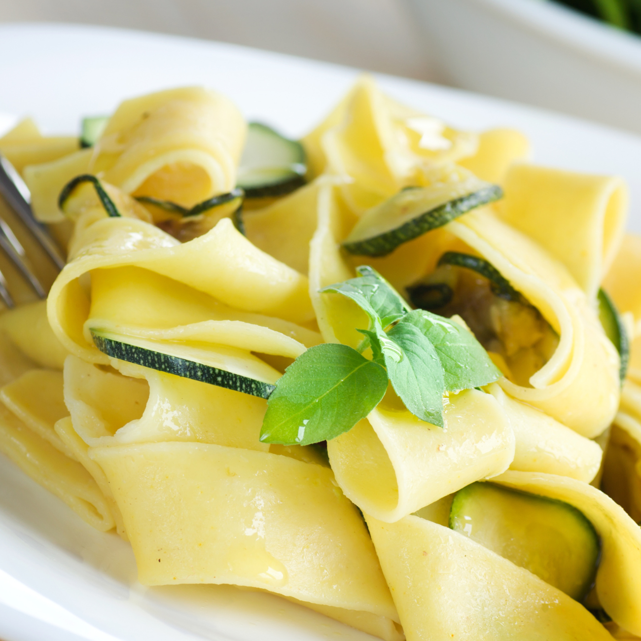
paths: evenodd
<path fill-rule="evenodd" d="M 326 343 L 301 354 L 267 399 L 260 440 L 309 445 L 353 428 L 387 390 L 385 369 L 347 345 Z"/>

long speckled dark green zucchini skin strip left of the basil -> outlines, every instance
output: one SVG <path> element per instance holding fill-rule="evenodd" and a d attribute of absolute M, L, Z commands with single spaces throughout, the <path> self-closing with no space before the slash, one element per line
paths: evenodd
<path fill-rule="evenodd" d="M 263 399 L 269 398 L 271 393 L 276 389 L 276 385 L 271 383 L 263 383 L 263 381 L 256 381 L 247 376 L 240 374 L 233 374 L 224 369 L 218 369 L 211 365 L 203 365 L 203 363 L 196 363 L 195 361 L 179 358 L 178 356 L 171 356 L 160 352 L 154 352 L 145 347 L 138 347 L 137 345 L 129 345 L 122 343 L 112 338 L 106 338 L 92 331 L 92 337 L 96 347 L 119 360 L 124 360 L 128 363 L 135 363 L 149 369 L 155 369 L 159 372 L 166 372 L 167 374 L 174 374 L 182 378 L 190 378 L 193 381 L 201 381 L 201 383 L 209 383 L 210 385 L 217 385 L 217 387 L 224 387 L 228 390 L 235 390 L 243 394 L 251 394 Z"/>

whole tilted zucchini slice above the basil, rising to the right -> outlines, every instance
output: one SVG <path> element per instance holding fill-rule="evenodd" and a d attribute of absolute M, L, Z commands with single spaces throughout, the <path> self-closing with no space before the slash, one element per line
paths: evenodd
<path fill-rule="evenodd" d="M 406 187 L 367 210 L 342 245 L 351 254 L 385 256 L 404 242 L 502 196 L 501 187 L 475 176 L 429 187 Z"/>

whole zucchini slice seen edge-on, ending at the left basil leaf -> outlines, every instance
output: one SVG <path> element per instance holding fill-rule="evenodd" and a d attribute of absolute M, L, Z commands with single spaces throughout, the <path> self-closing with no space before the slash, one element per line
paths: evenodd
<path fill-rule="evenodd" d="M 202 349 L 128 337 L 104 329 L 90 331 L 96 347 L 112 358 L 263 399 L 269 398 L 280 376 L 267 363 L 235 347 L 215 345 L 215 350 Z"/>

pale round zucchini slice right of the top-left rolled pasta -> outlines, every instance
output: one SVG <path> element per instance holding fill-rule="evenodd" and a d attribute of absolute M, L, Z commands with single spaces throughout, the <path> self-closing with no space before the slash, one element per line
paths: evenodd
<path fill-rule="evenodd" d="M 266 124 L 249 123 L 237 179 L 247 198 L 289 194 L 305 184 L 306 171 L 303 145 Z"/>

